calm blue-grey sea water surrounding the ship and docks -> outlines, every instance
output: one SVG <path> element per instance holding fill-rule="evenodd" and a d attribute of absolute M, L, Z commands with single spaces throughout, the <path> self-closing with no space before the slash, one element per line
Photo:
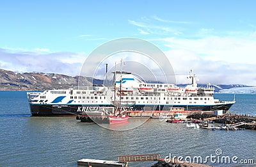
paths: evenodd
<path fill-rule="evenodd" d="M 215 97 L 234 99 L 231 94 Z M 256 115 L 256 95 L 239 94 L 236 101 L 232 113 Z M 157 119 L 129 131 L 111 131 L 77 122 L 75 117 L 31 117 L 29 112 L 25 91 L 0 91 L 0 166 L 77 166 L 79 159 L 117 160 L 116 156 L 123 154 L 206 157 L 216 155 L 216 149 L 221 149 L 222 155 L 256 163 L 256 131 L 188 129 L 184 124 Z M 150 164 L 153 162 L 129 166 Z"/>

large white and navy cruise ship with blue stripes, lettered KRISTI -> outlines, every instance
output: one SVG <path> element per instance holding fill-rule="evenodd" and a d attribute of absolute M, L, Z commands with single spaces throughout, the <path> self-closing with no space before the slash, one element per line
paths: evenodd
<path fill-rule="evenodd" d="M 146 83 L 129 72 L 113 72 L 111 86 L 76 86 L 60 90 L 28 92 L 32 116 L 76 116 L 106 107 L 129 107 L 131 111 L 227 111 L 235 101 L 214 99 L 214 87 L 200 87 L 189 72 L 191 84 L 179 87 L 172 83 Z"/>

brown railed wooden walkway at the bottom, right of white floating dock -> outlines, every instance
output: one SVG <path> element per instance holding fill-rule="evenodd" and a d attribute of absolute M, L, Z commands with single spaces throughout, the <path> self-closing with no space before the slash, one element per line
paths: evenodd
<path fill-rule="evenodd" d="M 160 154 L 145 154 L 145 155 L 119 155 L 118 162 L 137 162 L 137 161 L 158 161 Z"/>

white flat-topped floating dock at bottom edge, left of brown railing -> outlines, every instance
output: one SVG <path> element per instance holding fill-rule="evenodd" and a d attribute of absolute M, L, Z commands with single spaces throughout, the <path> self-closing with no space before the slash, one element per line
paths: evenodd
<path fill-rule="evenodd" d="M 77 165 L 88 166 L 88 167 L 105 167 L 105 166 L 116 166 L 116 167 L 127 167 L 127 163 L 119 163 L 117 161 L 108 161 L 100 159 L 80 159 L 77 161 Z"/>

